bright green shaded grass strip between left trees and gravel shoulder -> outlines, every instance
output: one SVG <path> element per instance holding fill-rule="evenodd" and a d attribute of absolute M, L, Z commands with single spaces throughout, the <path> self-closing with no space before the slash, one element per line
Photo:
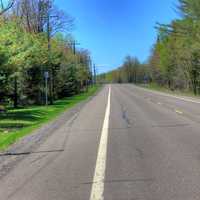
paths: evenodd
<path fill-rule="evenodd" d="M 52 106 L 9 109 L 6 115 L 0 115 L 0 150 L 5 150 L 9 145 L 55 119 L 67 109 L 88 99 L 98 89 L 99 86 L 90 87 L 87 92 L 58 100 Z"/>

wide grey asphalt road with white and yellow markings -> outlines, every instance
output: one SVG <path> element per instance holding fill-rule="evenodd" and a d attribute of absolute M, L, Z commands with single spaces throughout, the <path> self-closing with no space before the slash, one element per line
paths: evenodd
<path fill-rule="evenodd" d="M 199 200 L 200 101 L 105 86 L 13 165 L 0 199 Z"/>

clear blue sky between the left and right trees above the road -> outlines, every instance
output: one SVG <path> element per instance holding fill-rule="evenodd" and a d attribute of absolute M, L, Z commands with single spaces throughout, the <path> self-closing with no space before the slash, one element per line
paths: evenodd
<path fill-rule="evenodd" d="M 156 39 L 156 22 L 177 17 L 176 0 L 56 0 L 75 18 L 73 34 L 98 71 L 117 68 L 126 55 L 144 62 Z"/>

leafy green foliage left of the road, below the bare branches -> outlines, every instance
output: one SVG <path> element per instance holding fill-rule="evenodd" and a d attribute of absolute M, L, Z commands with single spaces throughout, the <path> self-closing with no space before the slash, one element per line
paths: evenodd
<path fill-rule="evenodd" d="M 0 24 L 0 103 L 44 104 L 45 71 L 51 78 L 48 95 L 54 100 L 87 87 L 89 54 L 77 51 L 74 55 L 68 45 L 71 41 L 62 34 L 51 39 L 49 51 L 46 33 L 30 33 L 19 24 L 18 19 Z"/>

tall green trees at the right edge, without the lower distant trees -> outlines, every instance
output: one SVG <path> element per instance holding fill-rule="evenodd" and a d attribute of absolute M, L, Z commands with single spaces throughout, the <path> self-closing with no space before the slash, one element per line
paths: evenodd
<path fill-rule="evenodd" d="M 153 81 L 169 89 L 200 92 L 200 3 L 179 0 L 182 19 L 159 27 L 149 60 Z"/>

